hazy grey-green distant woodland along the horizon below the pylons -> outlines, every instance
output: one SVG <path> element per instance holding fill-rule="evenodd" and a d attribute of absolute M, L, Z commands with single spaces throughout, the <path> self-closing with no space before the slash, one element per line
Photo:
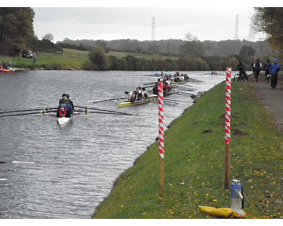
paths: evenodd
<path fill-rule="evenodd" d="M 57 42 L 60 47 L 86 50 L 103 47 L 106 52 L 127 52 L 146 55 L 163 55 L 180 57 L 191 55 L 192 57 L 226 57 L 230 54 L 239 54 L 244 46 L 255 50 L 255 55 L 269 55 L 272 48 L 268 42 L 250 42 L 248 40 L 223 40 L 223 41 L 199 41 L 199 40 L 70 40 L 65 38 Z"/>

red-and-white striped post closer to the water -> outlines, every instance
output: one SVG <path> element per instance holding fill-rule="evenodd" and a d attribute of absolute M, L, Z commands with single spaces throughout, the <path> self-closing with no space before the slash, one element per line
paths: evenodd
<path fill-rule="evenodd" d="M 164 112 L 163 112 L 163 83 L 158 83 L 158 142 L 159 142 L 159 162 L 160 162 L 160 194 L 164 196 Z"/>

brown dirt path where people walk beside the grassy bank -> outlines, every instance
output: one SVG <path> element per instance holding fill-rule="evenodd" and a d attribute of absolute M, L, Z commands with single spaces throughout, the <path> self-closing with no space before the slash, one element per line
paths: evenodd
<path fill-rule="evenodd" d="M 279 74 L 276 89 L 271 88 L 270 82 L 267 84 L 265 76 L 260 74 L 258 82 L 255 81 L 254 75 L 249 76 L 249 82 L 253 83 L 256 95 L 271 117 L 275 121 L 275 126 L 283 133 L 283 81 Z"/>

